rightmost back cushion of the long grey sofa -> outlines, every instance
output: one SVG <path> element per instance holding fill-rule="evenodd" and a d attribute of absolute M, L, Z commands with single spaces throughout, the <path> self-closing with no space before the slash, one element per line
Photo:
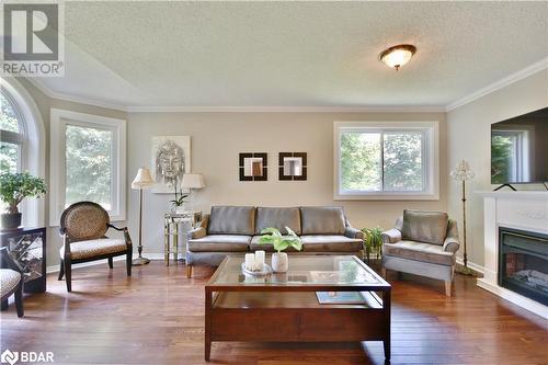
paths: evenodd
<path fill-rule="evenodd" d="M 336 206 L 300 207 L 302 235 L 344 235 L 344 212 Z"/>

